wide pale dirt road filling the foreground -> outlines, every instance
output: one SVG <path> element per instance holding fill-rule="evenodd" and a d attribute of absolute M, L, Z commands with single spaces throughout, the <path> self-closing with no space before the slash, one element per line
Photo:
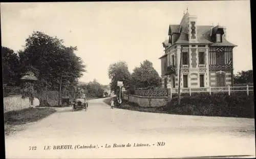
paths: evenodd
<path fill-rule="evenodd" d="M 110 109 L 102 100 L 89 101 L 88 111 L 57 108 L 7 136 L 6 158 L 255 155 L 254 119 Z"/>

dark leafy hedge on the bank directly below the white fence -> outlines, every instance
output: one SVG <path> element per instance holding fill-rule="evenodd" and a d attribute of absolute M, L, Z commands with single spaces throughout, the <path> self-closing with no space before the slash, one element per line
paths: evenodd
<path fill-rule="evenodd" d="M 254 95 L 247 96 L 244 92 L 208 93 L 183 96 L 181 104 L 177 99 L 167 104 L 170 113 L 182 115 L 224 116 L 254 118 Z"/>

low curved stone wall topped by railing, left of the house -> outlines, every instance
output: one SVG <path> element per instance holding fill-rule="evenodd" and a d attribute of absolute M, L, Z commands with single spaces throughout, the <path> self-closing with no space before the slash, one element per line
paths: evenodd
<path fill-rule="evenodd" d="M 123 95 L 123 99 L 129 102 L 137 103 L 142 107 L 160 107 L 166 104 L 167 97 L 144 97 L 135 95 Z"/>

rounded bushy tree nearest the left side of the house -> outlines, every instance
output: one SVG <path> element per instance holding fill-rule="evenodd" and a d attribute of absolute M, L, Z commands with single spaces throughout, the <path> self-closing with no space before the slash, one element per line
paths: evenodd
<path fill-rule="evenodd" d="M 153 67 L 153 63 L 145 60 L 140 67 L 135 67 L 132 74 L 134 86 L 141 88 L 153 88 L 160 86 L 160 77 Z"/>

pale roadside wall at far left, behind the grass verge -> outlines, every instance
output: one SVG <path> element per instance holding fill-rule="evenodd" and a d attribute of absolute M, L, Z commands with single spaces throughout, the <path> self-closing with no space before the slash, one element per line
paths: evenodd
<path fill-rule="evenodd" d="M 37 105 L 39 105 L 39 100 L 34 98 L 33 106 Z M 21 110 L 31 106 L 32 105 L 28 97 L 22 98 L 22 95 L 4 97 L 4 112 Z"/>

